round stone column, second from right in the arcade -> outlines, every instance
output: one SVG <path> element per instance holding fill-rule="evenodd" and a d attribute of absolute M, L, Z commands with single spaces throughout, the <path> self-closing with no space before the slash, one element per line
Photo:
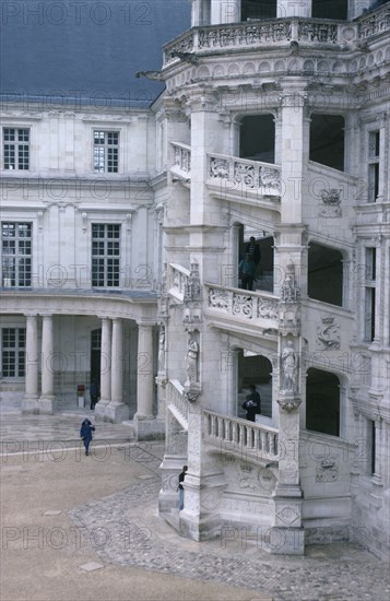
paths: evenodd
<path fill-rule="evenodd" d="M 119 318 L 113 319 L 111 341 L 111 401 L 106 406 L 105 420 L 118 423 L 129 419 L 123 403 L 123 330 Z"/>

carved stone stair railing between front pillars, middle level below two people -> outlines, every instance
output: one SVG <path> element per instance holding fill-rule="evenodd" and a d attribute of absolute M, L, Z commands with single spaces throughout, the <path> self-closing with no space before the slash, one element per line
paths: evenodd
<path fill-rule="evenodd" d="M 216 284 L 205 284 L 208 307 L 228 316 L 248 320 L 267 320 L 269 328 L 279 326 L 279 297 L 262 292 L 238 291 Z"/>

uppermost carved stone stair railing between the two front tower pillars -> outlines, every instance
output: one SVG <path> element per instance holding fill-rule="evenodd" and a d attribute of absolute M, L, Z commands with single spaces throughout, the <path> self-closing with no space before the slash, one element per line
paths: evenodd
<path fill-rule="evenodd" d="M 271 163 L 209 154 L 208 178 L 225 180 L 233 189 L 261 190 L 264 196 L 281 195 L 281 167 Z"/>

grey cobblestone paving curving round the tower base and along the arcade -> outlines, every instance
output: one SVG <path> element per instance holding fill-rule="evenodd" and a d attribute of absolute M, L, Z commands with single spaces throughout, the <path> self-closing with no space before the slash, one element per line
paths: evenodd
<path fill-rule="evenodd" d="M 15 440 L 70 445 L 79 425 L 80 416 L 8 415 L 1 419 L 1 434 L 13 453 L 21 452 L 12 446 Z M 263 593 L 274 601 L 389 600 L 389 566 L 356 545 L 310 546 L 304 557 L 287 557 L 247 544 L 245 537 L 202 543 L 179 537 L 156 510 L 163 445 L 130 445 L 129 431 L 122 424 L 98 425 L 102 444 L 111 440 L 117 452 L 131 449 L 129 460 L 142 464 L 143 474 L 123 490 L 68 511 L 75 527 L 95 533 L 94 550 L 103 564 L 243 587 L 253 591 L 253 601 Z"/>

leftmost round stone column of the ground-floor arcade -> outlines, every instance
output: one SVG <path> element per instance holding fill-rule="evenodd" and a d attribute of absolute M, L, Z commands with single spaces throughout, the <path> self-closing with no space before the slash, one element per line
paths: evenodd
<path fill-rule="evenodd" d="M 23 413 L 38 413 L 38 316 L 26 315 L 26 362 L 25 393 L 22 401 Z"/>

